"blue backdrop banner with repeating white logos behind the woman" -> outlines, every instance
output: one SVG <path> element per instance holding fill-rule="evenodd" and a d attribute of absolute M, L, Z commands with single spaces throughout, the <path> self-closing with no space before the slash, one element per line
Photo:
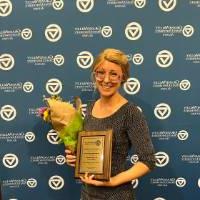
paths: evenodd
<path fill-rule="evenodd" d="M 43 96 L 93 89 L 105 48 L 124 51 L 121 93 L 144 113 L 157 168 L 133 180 L 139 200 L 200 197 L 200 0 L 0 0 L 0 182 L 4 200 L 79 200 L 81 182 L 56 132 L 37 116 Z M 130 152 L 128 164 L 138 157 Z"/>

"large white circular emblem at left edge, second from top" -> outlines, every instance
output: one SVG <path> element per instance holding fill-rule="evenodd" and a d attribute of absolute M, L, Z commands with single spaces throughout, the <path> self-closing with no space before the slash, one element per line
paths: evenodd
<path fill-rule="evenodd" d="M 0 56 L 0 69 L 7 71 L 12 69 L 14 65 L 15 60 L 12 55 L 5 53 Z"/>

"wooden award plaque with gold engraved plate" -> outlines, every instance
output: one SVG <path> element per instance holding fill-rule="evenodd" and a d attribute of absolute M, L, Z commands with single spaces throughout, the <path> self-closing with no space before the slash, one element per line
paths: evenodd
<path fill-rule="evenodd" d="M 112 130 L 82 131 L 78 135 L 75 178 L 87 172 L 96 180 L 110 179 Z"/>

